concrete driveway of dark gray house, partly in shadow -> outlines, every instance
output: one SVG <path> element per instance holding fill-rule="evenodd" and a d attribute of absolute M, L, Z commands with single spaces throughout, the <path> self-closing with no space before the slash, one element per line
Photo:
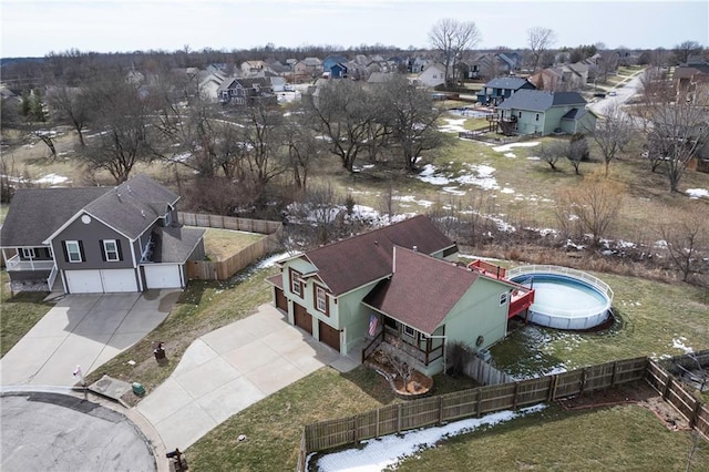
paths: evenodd
<path fill-rule="evenodd" d="M 169 314 L 179 290 L 68 295 L 0 360 L 2 386 L 73 386 L 144 338 Z"/>

